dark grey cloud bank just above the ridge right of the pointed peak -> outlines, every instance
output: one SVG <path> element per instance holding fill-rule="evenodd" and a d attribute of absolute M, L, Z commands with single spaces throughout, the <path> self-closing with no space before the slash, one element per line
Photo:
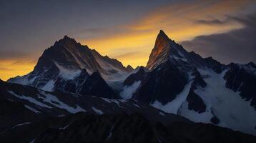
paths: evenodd
<path fill-rule="evenodd" d="M 254 17 L 254 18 L 253 18 Z M 256 13 L 241 17 L 232 17 L 234 21 L 244 25 L 222 34 L 197 36 L 191 41 L 183 41 L 182 45 L 197 51 L 202 56 L 213 56 L 215 59 L 229 64 L 256 62 Z"/>

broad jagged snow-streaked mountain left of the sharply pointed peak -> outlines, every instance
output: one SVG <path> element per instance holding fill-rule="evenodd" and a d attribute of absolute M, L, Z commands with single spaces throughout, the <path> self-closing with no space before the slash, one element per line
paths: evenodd
<path fill-rule="evenodd" d="M 104 93 L 101 95 L 103 97 L 114 97 L 114 92 L 102 77 L 111 79 L 114 74 L 128 74 L 129 71 L 132 69 L 124 67 L 117 59 L 102 56 L 96 50 L 64 36 L 44 51 L 33 71 L 23 77 L 9 79 L 8 82 L 50 92 L 92 95 L 100 92 Z"/>

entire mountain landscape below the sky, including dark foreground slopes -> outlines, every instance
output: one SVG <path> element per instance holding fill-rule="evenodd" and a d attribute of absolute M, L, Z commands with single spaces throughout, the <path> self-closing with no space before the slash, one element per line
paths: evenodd
<path fill-rule="evenodd" d="M 255 87 L 254 63 L 203 58 L 162 30 L 136 69 L 64 36 L 29 74 L 0 81 L 0 139 L 255 142 Z"/>

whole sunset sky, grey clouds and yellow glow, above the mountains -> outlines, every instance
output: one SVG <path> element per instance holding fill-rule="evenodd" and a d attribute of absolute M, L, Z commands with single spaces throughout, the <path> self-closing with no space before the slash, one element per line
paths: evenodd
<path fill-rule="evenodd" d="M 0 1 L 0 78 L 24 75 L 64 35 L 145 66 L 160 29 L 187 51 L 256 61 L 255 1 Z"/>

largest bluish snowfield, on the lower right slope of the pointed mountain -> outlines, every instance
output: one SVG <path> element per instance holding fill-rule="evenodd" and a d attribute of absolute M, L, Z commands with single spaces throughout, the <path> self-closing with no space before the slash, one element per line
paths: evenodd
<path fill-rule="evenodd" d="M 210 69 L 199 70 L 205 78 L 207 87 L 196 89 L 203 102 L 206 104 L 206 112 L 198 114 L 187 109 L 187 102 L 182 104 L 180 115 L 192 119 L 194 122 L 210 123 L 210 119 L 215 116 L 220 119 L 218 124 L 221 127 L 240 130 L 249 134 L 256 134 L 256 112 L 250 105 L 251 101 L 245 101 L 240 96 L 240 92 L 234 92 L 225 87 L 223 78 L 226 71 L 221 74 Z M 246 112 L 245 112 L 246 111 Z"/>

